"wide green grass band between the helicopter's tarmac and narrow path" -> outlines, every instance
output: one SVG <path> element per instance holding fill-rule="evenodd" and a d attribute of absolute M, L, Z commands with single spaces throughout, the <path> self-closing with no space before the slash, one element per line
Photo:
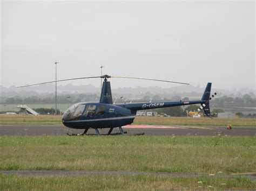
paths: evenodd
<path fill-rule="evenodd" d="M 1 136 L 1 170 L 256 172 L 255 137 Z"/>

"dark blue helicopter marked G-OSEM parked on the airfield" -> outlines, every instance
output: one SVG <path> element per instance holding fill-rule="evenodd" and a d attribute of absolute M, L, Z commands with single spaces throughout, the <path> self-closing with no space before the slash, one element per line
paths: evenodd
<path fill-rule="evenodd" d="M 201 107 L 198 109 L 204 110 L 206 116 L 210 117 L 210 103 L 209 101 L 217 94 L 211 94 L 212 83 L 208 82 L 205 88 L 203 97 L 201 100 L 194 101 L 169 101 L 169 102 L 144 102 L 144 103 L 122 103 L 114 104 L 112 100 L 110 79 L 111 77 L 125 78 L 125 79 L 140 79 L 140 80 L 151 80 L 151 81 L 161 81 L 161 82 L 170 82 L 170 83 L 179 83 L 179 84 L 189 84 L 183 82 L 175 81 L 166 81 L 166 80 L 157 80 L 157 79 L 146 79 L 142 77 L 126 77 L 126 76 L 93 76 L 93 77 L 79 77 L 66 80 L 58 80 L 51 82 L 43 82 L 30 84 L 21 87 L 35 86 L 38 84 L 61 82 L 68 80 L 78 80 L 78 79 L 91 79 L 91 78 L 102 78 L 104 79 L 102 91 L 100 94 L 99 102 L 80 102 L 71 105 L 62 116 L 62 123 L 71 129 L 84 129 L 82 135 L 86 135 L 87 131 L 92 128 L 95 129 L 96 134 L 100 135 L 98 129 L 109 129 L 107 135 L 111 135 L 111 132 L 114 128 L 119 128 L 121 135 L 124 135 L 122 126 L 130 125 L 133 123 L 134 118 L 138 110 L 147 110 L 147 109 L 157 109 L 157 108 L 166 108 L 174 107 L 180 105 L 191 105 L 191 104 L 201 104 Z"/>

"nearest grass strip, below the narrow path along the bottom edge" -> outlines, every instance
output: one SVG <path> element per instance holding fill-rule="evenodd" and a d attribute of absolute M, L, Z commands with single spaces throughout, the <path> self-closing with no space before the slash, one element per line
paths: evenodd
<path fill-rule="evenodd" d="M 0 190 L 166 190 L 255 189 L 248 178 L 163 177 L 151 175 L 19 176 L 0 174 Z"/>

